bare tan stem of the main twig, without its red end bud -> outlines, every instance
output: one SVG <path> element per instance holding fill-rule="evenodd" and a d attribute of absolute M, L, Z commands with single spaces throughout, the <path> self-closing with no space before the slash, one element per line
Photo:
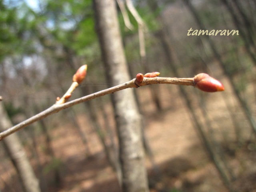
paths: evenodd
<path fill-rule="evenodd" d="M 95 99 L 100 96 L 104 96 L 106 94 L 112 94 L 114 92 L 124 90 L 126 88 L 138 88 L 140 86 L 145 86 L 149 84 L 176 84 L 176 85 L 187 85 L 187 86 L 194 86 L 194 78 L 164 78 L 164 77 L 155 77 L 155 78 L 144 78 L 144 80 L 140 83 L 136 82 L 136 79 L 130 80 L 129 82 L 72 100 L 70 102 L 66 102 L 64 104 L 54 104 L 50 108 L 36 114 L 35 116 L 32 116 L 31 118 L 11 127 L 5 130 L 4 132 L 0 133 L 0 140 L 5 138 L 6 136 L 17 132 L 18 130 L 25 128 L 26 126 L 39 121 L 43 118 L 46 118 L 47 116 L 57 113 L 60 110 L 69 108 L 73 105 L 86 102 L 92 99 Z"/>

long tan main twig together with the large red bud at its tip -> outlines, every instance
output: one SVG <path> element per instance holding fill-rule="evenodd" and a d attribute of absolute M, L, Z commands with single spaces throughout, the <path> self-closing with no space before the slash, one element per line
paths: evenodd
<path fill-rule="evenodd" d="M 159 74 L 159 73 L 158 73 Z M 143 76 L 143 75 L 142 75 Z M 220 82 L 217 83 L 217 89 L 214 87 L 214 85 L 216 84 L 216 82 L 212 81 L 212 77 L 208 76 L 207 74 L 205 74 L 205 76 L 202 76 L 201 74 L 198 74 L 197 76 L 195 76 L 194 78 L 168 78 L 168 77 L 153 77 L 153 78 L 147 78 L 144 77 L 142 81 L 138 81 L 138 79 L 134 78 L 133 80 L 130 80 L 129 82 L 78 98 L 78 99 L 74 99 L 70 102 L 66 102 L 63 104 L 54 104 L 53 106 L 51 106 L 50 108 L 36 114 L 35 116 L 32 116 L 31 118 L 28 118 L 27 120 L 11 127 L 8 128 L 7 130 L 5 130 L 4 132 L 0 133 L 0 140 L 2 140 L 3 138 L 5 138 L 6 136 L 17 132 L 18 130 L 25 128 L 26 126 L 39 121 L 43 118 L 46 118 L 47 116 L 57 113 L 60 110 L 69 108 L 73 105 L 82 103 L 82 102 L 86 102 L 89 100 L 93 100 L 97 97 L 100 96 L 104 96 L 107 94 L 113 94 L 114 92 L 120 91 L 120 90 L 124 90 L 126 88 L 138 88 L 141 86 L 146 86 L 146 85 L 150 85 L 150 84 L 175 84 L 175 85 L 187 85 L 187 86 L 195 86 L 196 88 L 199 88 L 201 90 L 204 90 L 204 87 L 206 86 L 206 90 L 207 92 L 214 92 L 214 91 L 222 91 L 224 90 L 224 87 L 222 86 L 222 84 Z M 209 80 L 207 82 L 207 84 L 205 85 L 205 80 Z M 215 80 L 215 79 L 213 79 Z M 215 80 L 217 81 L 217 80 Z M 210 84 L 210 88 L 211 90 L 209 90 L 209 84 Z M 203 87 L 203 88 L 202 88 Z"/>

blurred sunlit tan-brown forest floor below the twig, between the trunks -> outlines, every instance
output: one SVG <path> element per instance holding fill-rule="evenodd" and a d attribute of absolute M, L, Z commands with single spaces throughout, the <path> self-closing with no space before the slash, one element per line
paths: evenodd
<path fill-rule="evenodd" d="M 161 86 L 161 89 L 164 89 L 161 92 L 166 91 L 164 86 Z M 174 88 L 171 94 L 161 95 L 162 98 L 169 98 L 162 100 L 164 110 L 157 112 L 154 104 L 150 102 L 149 89 L 142 90 L 144 95 L 148 96 L 142 101 L 146 124 L 145 134 L 154 155 L 154 166 L 146 156 L 150 192 L 228 192 L 201 144 L 182 99 L 175 97 L 175 91 L 177 90 Z M 225 106 L 224 102 L 220 102 L 220 97 L 220 94 L 213 94 L 208 98 L 212 101 L 211 105 L 214 106 L 216 116 L 220 115 L 219 112 L 223 111 Z M 170 100 L 173 102 L 170 103 Z M 109 110 L 111 114 L 111 109 Z M 110 124 L 113 123 L 112 118 L 109 119 Z M 87 125 L 88 120 L 84 116 L 79 116 L 79 123 Z M 226 128 L 225 121 L 222 128 Z M 70 128 L 70 124 L 66 126 L 62 124 L 52 130 L 52 147 L 58 160 L 48 166 L 49 172 L 44 172 L 47 175 L 49 191 L 120 192 L 116 174 L 108 164 L 95 131 L 92 128 L 86 128 L 84 133 L 90 149 L 89 156 L 85 155 L 85 147 L 78 133 Z M 43 142 L 42 138 L 38 138 L 39 143 L 40 140 Z M 232 142 L 230 144 L 232 145 Z M 38 147 L 39 151 L 43 150 L 42 146 Z M 228 166 L 238 178 L 232 183 L 234 188 L 238 192 L 256 192 L 255 150 L 249 150 L 248 145 L 245 145 L 230 152 L 226 157 Z M 49 164 L 49 159 L 46 156 L 40 156 L 40 162 Z M 58 187 L 53 183 L 52 170 L 54 169 L 60 171 Z M 0 171 L 2 172 L 3 169 L 0 168 Z M 8 178 L 5 176 L 6 174 L 2 174 L 1 179 L 7 184 Z M 10 173 L 7 177 L 10 177 Z M 15 179 L 12 181 L 15 182 Z M 15 191 L 8 190 L 10 186 L 4 189 Z"/>

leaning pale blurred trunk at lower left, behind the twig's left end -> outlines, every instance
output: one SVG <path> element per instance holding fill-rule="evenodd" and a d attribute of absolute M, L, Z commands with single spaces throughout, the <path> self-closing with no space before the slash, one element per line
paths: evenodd
<path fill-rule="evenodd" d="M 1 131 L 12 127 L 12 123 L 4 109 L 2 102 L 0 102 L 0 129 Z M 26 192 L 40 192 L 39 183 L 34 173 L 34 170 L 26 156 L 22 144 L 16 133 L 4 138 L 2 140 L 6 152 L 10 156 L 14 167 L 22 181 L 22 185 Z"/>

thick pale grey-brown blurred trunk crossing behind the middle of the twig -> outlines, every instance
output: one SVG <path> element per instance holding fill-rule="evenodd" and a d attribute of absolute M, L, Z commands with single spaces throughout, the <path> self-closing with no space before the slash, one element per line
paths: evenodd
<path fill-rule="evenodd" d="M 102 50 L 107 81 L 112 85 L 130 80 L 114 0 L 94 0 L 96 30 Z M 112 95 L 122 166 L 124 192 L 146 192 L 148 181 L 144 163 L 142 130 L 132 89 Z"/>

